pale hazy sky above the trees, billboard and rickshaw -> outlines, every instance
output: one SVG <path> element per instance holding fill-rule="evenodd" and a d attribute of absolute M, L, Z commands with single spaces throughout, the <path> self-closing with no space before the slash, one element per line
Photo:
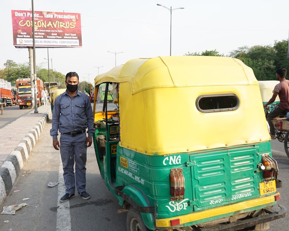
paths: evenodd
<path fill-rule="evenodd" d="M 121 65 L 170 55 L 170 11 L 157 4 L 184 7 L 172 11 L 172 56 L 215 49 L 229 55 L 288 39 L 288 0 L 34 0 L 34 11 L 81 14 L 82 47 L 49 48 L 49 59 L 56 71 L 75 71 L 80 82 L 93 83 L 98 72 L 115 66 L 115 58 Z M 7 60 L 29 62 L 28 48 L 13 46 L 11 10 L 31 9 L 31 0 L 1 1 L 0 68 Z M 48 69 L 47 48 L 36 48 L 35 56 L 36 65 Z"/>

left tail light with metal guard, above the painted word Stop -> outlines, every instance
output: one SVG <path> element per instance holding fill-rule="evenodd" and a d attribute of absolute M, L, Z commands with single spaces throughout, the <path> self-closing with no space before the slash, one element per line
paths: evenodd
<path fill-rule="evenodd" d="M 185 178 L 182 168 L 172 168 L 169 174 L 171 200 L 183 200 L 185 195 Z"/>

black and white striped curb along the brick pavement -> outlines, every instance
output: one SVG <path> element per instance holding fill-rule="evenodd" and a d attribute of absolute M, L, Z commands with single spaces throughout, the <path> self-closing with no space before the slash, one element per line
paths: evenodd
<path fill-rule="evenodd" d="M 12 151 L 0 167 L 0 204 L 12 190 L 13 184 L 21 173 L 24 163 L 32 152 L 36 141 L 40 137 L 51 115 L 51 110 L 36 123 L 36 125 L 19 142 L 15 151 Z"/>

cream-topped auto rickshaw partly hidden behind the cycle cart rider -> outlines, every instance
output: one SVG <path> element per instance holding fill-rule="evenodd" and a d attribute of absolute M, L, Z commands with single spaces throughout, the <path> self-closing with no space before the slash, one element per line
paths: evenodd
<path fill-rule="evenodd" d="M 261 98 L 263 104 L 267 103 L 269 99 L 271 99 L 273 95 L 274 87 L 280 83 L 277 80 L 265 80 L 265 81 L 258 81 L 259 82 L 259 88 L 261 93 Z M 278 105 L 280 103 L 279 95 L 277 95 L 275 101 L 271 103 L 270 105 Z M 273 108 L 270 108 L 268 112 L 270 112 Z"/>

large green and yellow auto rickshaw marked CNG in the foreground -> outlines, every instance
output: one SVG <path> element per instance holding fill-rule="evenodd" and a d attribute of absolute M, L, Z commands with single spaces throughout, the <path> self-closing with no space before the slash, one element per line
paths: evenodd
<path fill-rule="evenodd" d="M 286 215 L 272 209 L 278 166 L 258 81 L 240 60 L 133 59 L 98 75 L 95 93 L 97 163 L 127 230 L 265 230 Z"/>

